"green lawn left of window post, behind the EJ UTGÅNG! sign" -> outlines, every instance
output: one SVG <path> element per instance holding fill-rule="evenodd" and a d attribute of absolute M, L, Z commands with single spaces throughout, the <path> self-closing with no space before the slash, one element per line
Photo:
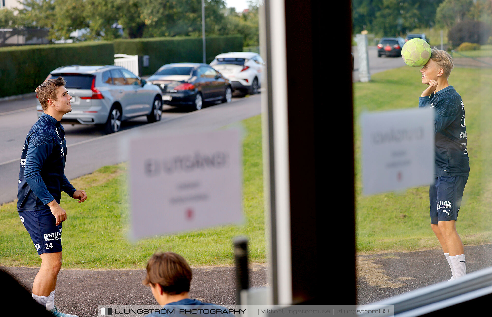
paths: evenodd
<path fill-rule="evenodd" d="M 85 189 L 84 203 L 62 195 L 68 219 L 63 222 L 65 268 L 143 268 L 156 251 L 181 254 L 190 265 L 233 263 L 232 238 L 249 238 L 252 262 L 265 262 L 261 117 L 244 120 L 243 210 L 245 224 L 220 226 L 176 235 L 155 236 L 132 244 L 126 239 L 128 204 L 126 165 L 103 167 L 73 181 Z M 39 266 L 31 238 L 17 213 L 16 202 L 0 206 L 0 263 Z"/>

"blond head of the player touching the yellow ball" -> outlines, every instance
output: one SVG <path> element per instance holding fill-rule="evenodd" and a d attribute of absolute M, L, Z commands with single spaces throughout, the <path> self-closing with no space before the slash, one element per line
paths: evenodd
<path fill-rule="evenodd" d="M 431 80 L 438 84 L 447 84 L 448 77 L 453 69 L 453 58 L 446 51 L 441 51 L 435 47 L 431 51 L 431 58 L 422 67 L 422 84 L 429 85 Z"/>

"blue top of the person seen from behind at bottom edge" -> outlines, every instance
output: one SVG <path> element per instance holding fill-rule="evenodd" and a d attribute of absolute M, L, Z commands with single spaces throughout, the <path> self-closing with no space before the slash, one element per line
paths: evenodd
<path fill-rule="evenodd" d="M 186 305 L 184 307 L 184 305 Z M 207 305 L 203 307 L 202 305 Z M 174 309 L 174 313 L 169 313 Z M 180 309 L 186 310 L 199 310 L 189 314 L 187 312 L 180 313 Z M 153 313 L 146 317 L 235 317 L 234 314 L 229 313 L 229 310 L 223 306 L 209 304 L 199 301 L 198 299 L 185 298 L 177 302 L 172 302 L 164 305 L 163 313 Z"/>

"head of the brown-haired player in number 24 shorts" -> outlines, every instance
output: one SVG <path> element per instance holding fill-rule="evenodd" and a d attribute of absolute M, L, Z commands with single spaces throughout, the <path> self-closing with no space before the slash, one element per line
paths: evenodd
<path fill-rule="evenodd" d="M 72 111 L 70 104 L 72 97 L 65 88 L 63 77 L 45 80 L 37 86 L 36 94 L 45 114 L 66 114 Z M 54 117 L 54 116 L 53 116 Z"/>

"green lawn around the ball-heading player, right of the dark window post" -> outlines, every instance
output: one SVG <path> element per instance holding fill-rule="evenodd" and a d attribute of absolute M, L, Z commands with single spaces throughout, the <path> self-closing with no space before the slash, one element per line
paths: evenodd
<path fill-rule="evenodd" d="M 418 97 L 426 88 L 419 68 L 405 66 L 374 74 L 371 79 L 370 83 L 354 84 L 357 250 L 374 253 L 439 248 L 430 227 L 429 186 L 398 194 L 362 195 L 361 113 L 418 107 Z M 492 70 L 455 68 L 449 83 L 463 99 L 470 155 L 470 177 L 457 229 L 465 244 L 491 243 Z"/>

